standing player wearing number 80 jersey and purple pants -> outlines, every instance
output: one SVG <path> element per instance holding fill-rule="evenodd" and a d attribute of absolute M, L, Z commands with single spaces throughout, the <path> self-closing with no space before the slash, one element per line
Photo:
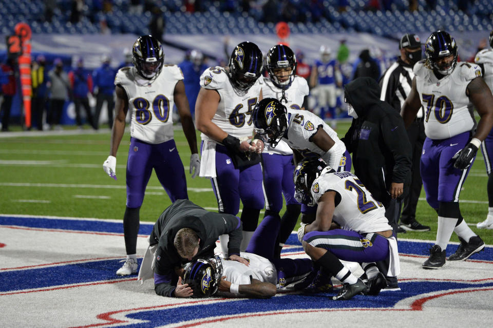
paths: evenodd
<path fill-rule="evenodd" d="M 125 263 L 117 271 L 117 275 L 131 275 L 137 272 L 139 210 L 153 168 L 172 202 L 188 199 L 185 171 L 173 139 L 174 104 L 180 114 L 181 125 L 192 152 L 192 178 L 195 178 L 200 170 L 195 128 L 181 70 L 175 65 L 163 64 L 164 52 L 161 43 L 150 35 L 143 35 L 137 39 L 132 56 L 134 67 L 120 69 L 115 78 L 117 116 L 111 131 L 110 155 L 103 164 L 104 171 L 116 180 L 116 155 L 125 129 L 125 117 L 130 109 L 127 201 L 123 217 L 127 259 L 122 261 Z"/>

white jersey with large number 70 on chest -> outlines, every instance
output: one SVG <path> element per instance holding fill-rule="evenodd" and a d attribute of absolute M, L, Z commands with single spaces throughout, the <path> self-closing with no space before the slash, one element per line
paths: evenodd
<path fill-rule="evenodd" d="M 476 126 L 466 88 L 482 75 L 478 65 L 458 62 L 452 73 L 441 80 L 425 66 L 425 61 L 414 65 L 413 71 L 425 109 L 426 137 L 448 139 Z"/>

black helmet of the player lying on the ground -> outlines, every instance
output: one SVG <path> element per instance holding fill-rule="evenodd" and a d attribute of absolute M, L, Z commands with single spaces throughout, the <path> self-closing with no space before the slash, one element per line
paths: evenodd
<path fill-rule="evenodd" d="M 218 256 L 189 262 L 184 270 L 183 284 L 192 288 L 194 298 L 209 297 L 217 292 L 222 276 L 222 262 Z"/>

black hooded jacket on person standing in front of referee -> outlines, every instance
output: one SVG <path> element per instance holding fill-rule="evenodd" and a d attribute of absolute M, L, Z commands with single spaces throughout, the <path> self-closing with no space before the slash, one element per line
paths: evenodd
<path fill-rule="evenodd" d="M 355 175 L 373 197 L 387 207 L 392 182 L 404 183 L 411 175 L 411 144 L 399 112 L 380 100 L 380 87 L 371 78 L 356 79 L 344 87 L 345 97 L 358 115 L 342 139 Z"/>

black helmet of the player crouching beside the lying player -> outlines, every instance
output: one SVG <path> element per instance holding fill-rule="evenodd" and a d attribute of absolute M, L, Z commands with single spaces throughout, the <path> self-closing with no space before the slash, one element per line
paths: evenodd
<path fill-rule="evenodd" d="M 302 195 L 301 202 L 308 205 L 313 203 L 310 188 L 327 163 L 318 156 L 306 157 L 299 161 L 293 172 L 293 182 L 296 192 Z"/>

